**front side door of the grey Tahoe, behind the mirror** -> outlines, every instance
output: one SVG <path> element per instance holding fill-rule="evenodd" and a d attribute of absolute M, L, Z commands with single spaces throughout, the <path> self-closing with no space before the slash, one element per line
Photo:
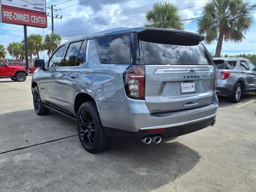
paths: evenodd
<path fill-rule="evenodd" d="M 40 74 L 40 97 L 44 102 L 56 104 L 56 68 L 62 64 L 65 45 L 57 48 L 46 64 L 46 68 Z"/>

